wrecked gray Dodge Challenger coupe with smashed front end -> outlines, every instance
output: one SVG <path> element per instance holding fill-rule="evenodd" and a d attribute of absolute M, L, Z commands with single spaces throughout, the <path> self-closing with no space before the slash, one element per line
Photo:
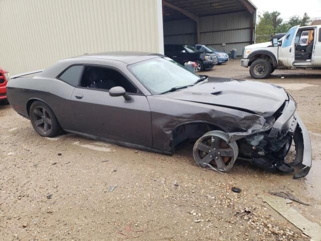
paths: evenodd
<path fill-rule="evenodd" d="M 159 54 L 61 60 L 13 76 L 8 99 L 43 137 L 64 130 L 168 155 L 193 141 L 196 163 L 221 172 L 237 159 L 271 172 L 290 173 L 297 166 L 294 178 L 311 167 L 309 134 L 283 88 L 199 76 Z"/>

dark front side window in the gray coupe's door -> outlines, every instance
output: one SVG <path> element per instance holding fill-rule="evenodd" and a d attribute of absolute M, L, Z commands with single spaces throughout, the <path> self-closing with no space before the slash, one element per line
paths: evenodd
<path fill-rule="evenodd" d="M 85 66 L 80 86 L 105 90 L 121 86 L 128 93 L 139 93 L 138 89 L 118 71 L 96 66 Z"/>

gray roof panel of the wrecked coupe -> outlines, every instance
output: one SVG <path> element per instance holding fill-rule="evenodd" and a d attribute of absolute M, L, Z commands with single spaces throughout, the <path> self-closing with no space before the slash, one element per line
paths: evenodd
<path fill-rule="evenodd" d="M 95 58 L 95 59 L 108 59 L 121 61 L 126 64 L 134 64 L 140 61 L 147 59 L 153 59 L 156 57 L 162 57 L 164 55 L 157 53 L 148 53 L 148 52 L 130 52 L 130 51 L 117 51 L 117 52 L 103 52 L 103 53 L 93 53 L 93 54 L 84 54 L 74 58 Z"/>

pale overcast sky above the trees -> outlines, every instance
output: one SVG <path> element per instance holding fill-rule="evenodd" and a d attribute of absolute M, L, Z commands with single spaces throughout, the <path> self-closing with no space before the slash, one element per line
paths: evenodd
<path fill-rule="evenodd" d="M 321 0 L 250 0 L 256 7 L 257 13 L 263 11 L 281 13 L 283 21 L 288 21 L 293 15 L 303 16 L 304 12 L 310 18 L 321 19 Z"/>

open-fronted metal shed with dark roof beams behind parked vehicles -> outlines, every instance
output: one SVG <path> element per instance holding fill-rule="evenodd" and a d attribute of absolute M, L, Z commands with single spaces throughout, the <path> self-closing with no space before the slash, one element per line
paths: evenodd
<path fill-rule="evenodd" d="M 248 0 L 164 0 L 163 21 L 165 43 L 236 48 L 241 55 L 255 40 L 256 7 Z"/>

